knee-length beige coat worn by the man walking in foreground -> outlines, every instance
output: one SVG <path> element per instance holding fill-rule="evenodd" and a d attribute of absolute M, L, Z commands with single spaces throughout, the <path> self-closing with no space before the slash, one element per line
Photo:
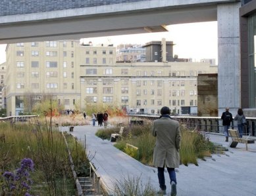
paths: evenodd
<path fill-rule="evenodd" d="M 180 124 L 168 117 L 153 121 L 151 130 L 157 137 L 153 154 L 154 167 L 178 168 L 180 165 Z"/>

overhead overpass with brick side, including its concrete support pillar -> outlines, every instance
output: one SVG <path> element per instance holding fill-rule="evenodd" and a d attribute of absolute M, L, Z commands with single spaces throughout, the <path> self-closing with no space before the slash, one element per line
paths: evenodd
<path fill-rule="evenodd" d="M 218 21 L 218 109 L 220 114 L 228 106 L 236 113 L 240 7 L 234 0 L 2 0 L 0 43 L 150 33 L 171 24 Z"/>

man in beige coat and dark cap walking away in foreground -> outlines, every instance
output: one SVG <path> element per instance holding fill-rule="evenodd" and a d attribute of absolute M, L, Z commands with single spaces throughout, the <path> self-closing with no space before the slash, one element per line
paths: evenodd
<path fill-rule="evenodd" d="M 153 165 L 157 167 L 159 179 L 159 194 L 166 194 L 165 186 L 165 165 L 170 176 L 170 186 L 172 196 L 176 195 L 176 173 L 174 168 L 180 165 L 180 124 L 170 118 L 170 109 L 163 107 L 161 117 L 153 121 L 153 136 L 157 137 Z"/>

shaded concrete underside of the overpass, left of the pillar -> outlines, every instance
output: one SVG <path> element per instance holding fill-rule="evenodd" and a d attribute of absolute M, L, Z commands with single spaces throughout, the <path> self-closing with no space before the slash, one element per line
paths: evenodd
<path fill-rule="evenodd" d="M 217 6 L 120 12 L 97 16 L 1 23 L 0 43 L 80 39 L 166 31 L 165 26 L 217 20 Z M 189 32 L 188 32 L 189 33 Z"/>

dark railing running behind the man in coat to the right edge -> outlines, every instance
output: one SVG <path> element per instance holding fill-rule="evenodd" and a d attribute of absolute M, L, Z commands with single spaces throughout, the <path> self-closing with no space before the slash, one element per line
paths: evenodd
<path fill-rule="evenodd" d="M 129 115 L 140 119 L 155 120 L 159 115 Z M 188 128 L 197 129 L 206 132 L 223 133 L 222 119 L 220 117 L 191 117 L 191 116 L 171 116 L 172 119 L 179 121 Z M 256 136 L 256 118 L 247 117 L 247 125 L 244 126 L 243 134 Z M 236 129 L 237 121 L 232 121 L 230 128 Z"/>

